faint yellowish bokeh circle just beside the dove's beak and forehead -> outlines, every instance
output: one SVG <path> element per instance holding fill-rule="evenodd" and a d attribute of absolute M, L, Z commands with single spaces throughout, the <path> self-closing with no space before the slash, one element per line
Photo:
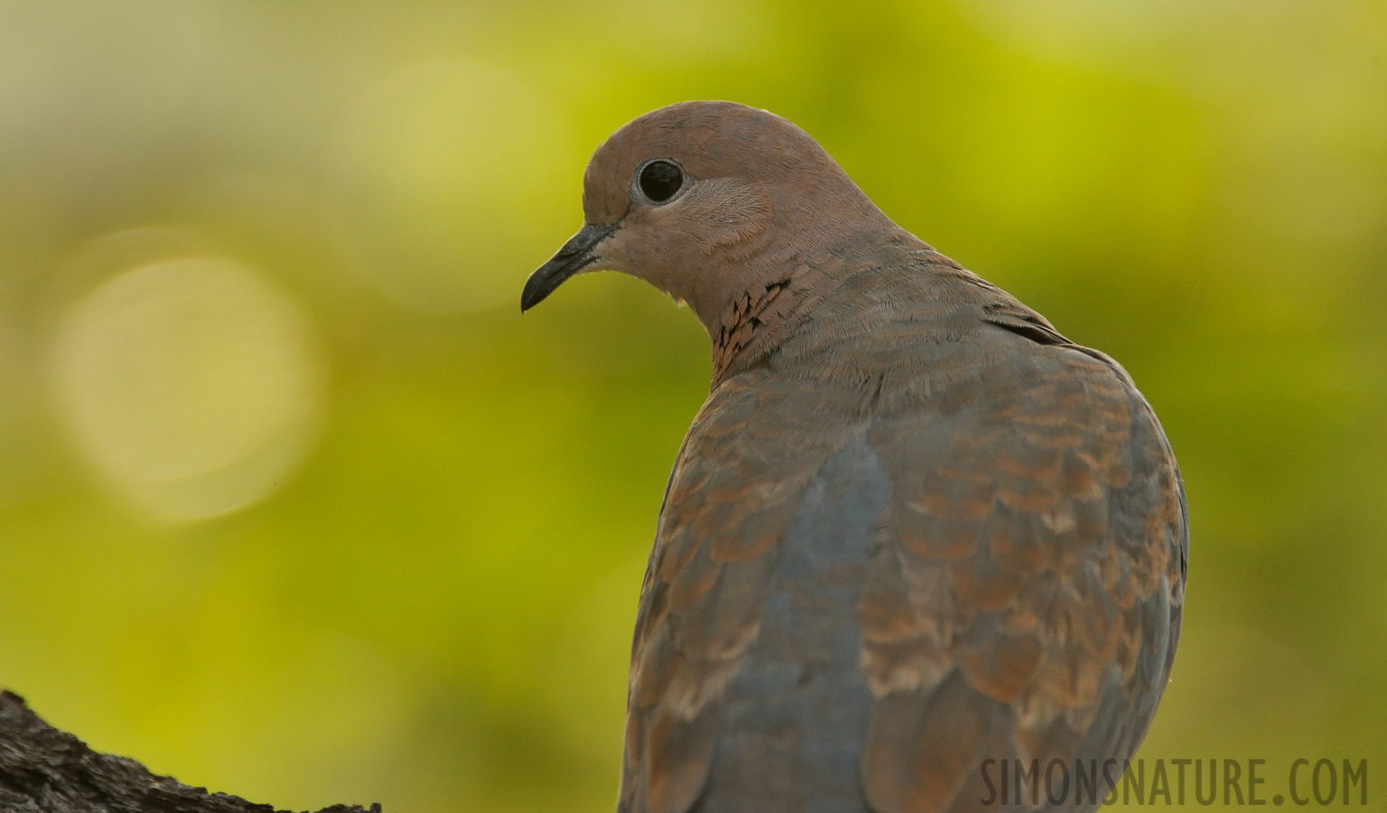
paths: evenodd
<path fill-rule="evenodd" d="M 484 62 L 411 65 L 356 100 L 329 155 L 361 276 L 427 311 L 519 296 L 577 225 L 583 160 L 555 107 Z"/>

